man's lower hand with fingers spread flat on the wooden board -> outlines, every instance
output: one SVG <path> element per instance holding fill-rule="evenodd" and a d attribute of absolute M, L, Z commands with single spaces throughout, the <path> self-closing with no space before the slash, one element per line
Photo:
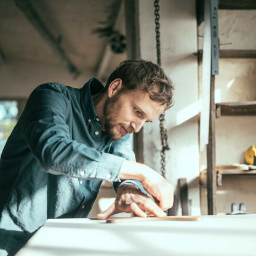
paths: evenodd
<path fill-rule="evenodd" d="M 116 200 L 103 214 L 98 214 L 97 218 L 105 219 L 120 212 L 133 212 L 138 217 L 146 217 L 145 211 L 157 217 L 166 216 L 158 204 L 138 190 L 136 185 L 126 183 L 119 186 Z"/>

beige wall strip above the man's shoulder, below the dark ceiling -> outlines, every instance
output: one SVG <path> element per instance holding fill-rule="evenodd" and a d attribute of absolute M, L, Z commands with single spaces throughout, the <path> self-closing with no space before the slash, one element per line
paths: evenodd
<path fill-rule="evenodd" d="M 32 90 L 44 82 L 61 82 L 79 88 L 93 75 L 92 70 L 86 70 L 74 78 L 64 65 L 8 60 L 0 68 L 0 98 L 28 98 Z"/>

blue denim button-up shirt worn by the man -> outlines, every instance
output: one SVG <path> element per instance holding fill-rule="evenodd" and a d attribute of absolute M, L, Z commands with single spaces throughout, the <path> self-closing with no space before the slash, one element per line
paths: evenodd
<path fill-rule="evenodd" d="M 87 217 L 102 180 L 117 188 L 122 163 L 135 161 L 129 134 L 114 142 L 102 131 L 92 102 L 102 88 L 94 78 L 81 89 L 42 84 L 30 95 L 1 156 L 1 256 L 47 218 Z"/>

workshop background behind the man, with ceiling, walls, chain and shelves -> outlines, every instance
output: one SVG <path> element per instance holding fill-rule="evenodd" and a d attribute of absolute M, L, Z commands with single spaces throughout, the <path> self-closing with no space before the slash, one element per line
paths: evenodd
<path fill-rule="evenodd" d="M 131 143 L 174 185 L 168 215 L 255 214 L 256 2 L 209 2 L 0 0 L 0 151 L 39 84 L 105 84 L 122 60 L 160 61 L 174 106 Z M 103 182 L 89 217 L 114 198 Z"/>

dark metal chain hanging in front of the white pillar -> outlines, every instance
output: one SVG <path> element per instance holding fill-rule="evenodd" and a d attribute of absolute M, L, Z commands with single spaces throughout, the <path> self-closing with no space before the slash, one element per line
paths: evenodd
<path fill-rule="evenodd" d="M 158 65 L 161 66 L 161 49 L 160 49 L 160 15 L 159 15 L 159 0 L 154 0 L 154 23 L 156 24 L 156 54 L 158 59 Z M 166 150 L 169 150 L 169 145 L 167 142 L 167 129 L 166 129 L 166 120 L 164 119 L 164 113 L 159 116 L 160 121 L 160 135 L 161 135 L 161 174 L 162 177 L 166 177 Z"/>

